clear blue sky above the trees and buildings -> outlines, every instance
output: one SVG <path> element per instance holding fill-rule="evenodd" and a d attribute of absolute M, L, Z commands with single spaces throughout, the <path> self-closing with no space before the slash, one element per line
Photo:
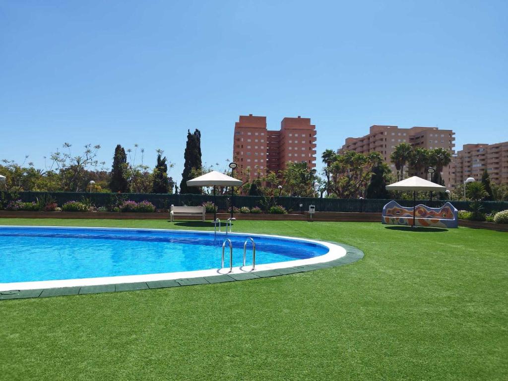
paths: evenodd
<path fill-rule="evenodd" d="M 240 114 L 310 117 L 317 152 L 371 124 L 508 140 L 508 2 L 0 2 L 0 158 L 162 148 L 231 158 Z"/>

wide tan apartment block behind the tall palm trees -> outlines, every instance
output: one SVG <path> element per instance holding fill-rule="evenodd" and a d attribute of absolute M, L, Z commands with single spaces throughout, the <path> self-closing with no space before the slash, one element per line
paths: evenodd
<path fill-rule="evenodd" d="M 437 127 L 412 127 L 399 129 L 396 125 L 372 125 L 369 134 L 361 138 L 347 138 L 345 144 L 338 150 L 356 151 L 359 153 L 379 152 L 385 162 L 395 172 L 395 165 L 390 161 L 390 155 L 395 146 L 400 143 L 408 143 L 414 147 L 426 149 L 444 148 L 454 153 L 455 133 L 452 130 L 439 130 Z M 453 173 L 450 166 L 443 169 L 442 178 L 444 184 L 451 185 Z"/>

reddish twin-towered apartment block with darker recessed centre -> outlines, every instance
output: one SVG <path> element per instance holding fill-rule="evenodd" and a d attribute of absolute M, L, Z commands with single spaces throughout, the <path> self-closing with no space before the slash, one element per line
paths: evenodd
<path fill-rule="evenodd" d="M 268 171 L 277 172 L 286 163 L 306 162 L 315 167 L 316 130 L 310 118 L 285 117 L 280 130 L 268 130 L 266 116 L 240 115 L 235 122 L 233 160 L 244 178 L 253 179 Z"/>

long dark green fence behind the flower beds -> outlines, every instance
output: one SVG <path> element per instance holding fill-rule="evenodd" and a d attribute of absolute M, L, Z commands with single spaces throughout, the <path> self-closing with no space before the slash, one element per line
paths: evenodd
<path fill-rule="evenodd" d="M 4 204 L 11 200 L 22 200 L 24 202 L 36 201 L 42 195 L 50 195 L 58 205 L 67 201 L 81 201 L 89 199 L 97 207 L 110 207 L 117 205 L 121 200 L 143 200 L 151 202 L 158 209 L 168 209 L 172 204 L 179 206 L 198 206 L 206 201 L 213 202 L 213 196 L 208 195 L 167 195 L 167 194 L 115 194 L 115 193 L 75 193 L 75 192 L 0 192 Z M 266 209 L 267 206 L 278 204 L 288 210 L 305 211 L 309 205 L 315 205 L 316 211 L 320 212 L 381 212 L 383 206 L 390 200 L 359 200 L 359 199 L 319 199 L 310 197 L 275 197 L 273 199 L 258 196 L 235 196 L 236 207 L 247 206 Z M 412 206 L 411 200 L 397 200 L 402 206 Z M 440 207 L 446 201 L 441 200 L 418 200 L 417 203 L 430 207 Z M 468 201 L 452 201 L 452 204 L 459 210 L 469 210 Z M 301 206 L 300 206 L 301 205 Z M 219 209 L 229 209 L 230 196 L 217 196 Z M 506 201 L 484 201 L 483 211 L 492 212 L 508 209 Z"/>

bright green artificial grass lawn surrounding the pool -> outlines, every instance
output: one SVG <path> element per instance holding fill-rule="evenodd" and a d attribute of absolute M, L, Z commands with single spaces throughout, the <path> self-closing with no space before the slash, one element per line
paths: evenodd
<path fill-rule="evenodd" d="M 1 301 L 0 379 L 508 379 L 508 234 L 306 221 L 236 221 L 234 230 L 343 242 L 365 258 L 274 278 Z"/>

